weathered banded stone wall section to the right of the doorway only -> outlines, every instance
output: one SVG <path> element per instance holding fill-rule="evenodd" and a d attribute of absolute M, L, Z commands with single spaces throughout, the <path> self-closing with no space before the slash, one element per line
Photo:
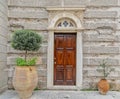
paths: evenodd
<path fill-rule="evenodd" d="M 117 0 L 91 0 L 84 15 L 83 88 L 96 89 L 103 59 L 114 68 L 108 80 L 111 90 L 120 90 L 119 5 Z"/>

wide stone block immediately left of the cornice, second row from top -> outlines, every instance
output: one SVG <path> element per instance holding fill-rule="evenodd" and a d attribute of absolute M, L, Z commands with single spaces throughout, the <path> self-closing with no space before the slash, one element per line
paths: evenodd
<path fill-rule="evenodd" d="M 38 19 L 46 19 L 48 18 L 48 13 L 45 10 L 40 9 L 18 9 L 18 10 L 9 10 L 8 11 L 9 18 L 38 18 Z"/>

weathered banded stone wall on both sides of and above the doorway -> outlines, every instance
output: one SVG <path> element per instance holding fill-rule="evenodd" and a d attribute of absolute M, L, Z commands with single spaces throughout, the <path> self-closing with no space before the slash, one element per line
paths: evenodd
<path fill-rule="evenodd" d="M 9 30 L 31 29 L 43 36 L 43 44 L 36 53 L 40 57 L 38 63 L 38 87 L 46 89 L 47 82 L 47 46 L 48 46 L 48 12 L 52 7 L 84 7 L 83 16 L 83 88 L 95 89 L 101 78 L 97 72 L 99 62 L 108 59 L 110 67 L 115 71 L 108 80 L 111 90 L 119 90 L 120 85 L 120 2 L 119 0 L 8 0 Z M 52 3 L 51 3 L 52 2 Z M 10 39 L 9 39 L 10 41 Z M 15 51 L 8 43 L 7 65 L 15 66 L 15 58 L 23 52 Z M 9 76 L 9 88 L 12 75 Z"/>

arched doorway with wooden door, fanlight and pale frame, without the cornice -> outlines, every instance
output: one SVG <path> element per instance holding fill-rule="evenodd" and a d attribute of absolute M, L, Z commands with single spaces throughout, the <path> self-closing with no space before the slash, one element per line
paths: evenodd
<path fill-rule="evenodd" d="M 60 13 L 50 22 L 47 57 L 48 89 L 81 88 L 83 66 L 81 29 L 80 20 L 71 13 Z"/>

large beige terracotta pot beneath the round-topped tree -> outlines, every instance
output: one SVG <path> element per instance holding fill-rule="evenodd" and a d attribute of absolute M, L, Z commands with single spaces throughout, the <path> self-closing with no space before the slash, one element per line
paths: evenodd
<path fill-rule="evenodd" d="M 16 66 L 13 76 L 13 86 L 21 99 L 31 97 L 38 83 L 35 66 Z"/>

